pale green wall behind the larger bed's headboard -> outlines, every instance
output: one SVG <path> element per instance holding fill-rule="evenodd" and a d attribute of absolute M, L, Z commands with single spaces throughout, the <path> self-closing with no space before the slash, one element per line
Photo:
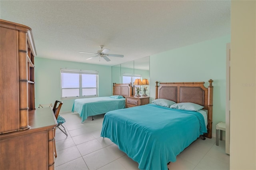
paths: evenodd
<path fill-rule="evenodd" d="M 155 99 L 156 81 L 191 82 L 214 80 L 213 136 L 215 125 L 225 122 L 226 109 L 226 43 L 230 35 L 172 49 L 150 56 L 150 99 Z"/>

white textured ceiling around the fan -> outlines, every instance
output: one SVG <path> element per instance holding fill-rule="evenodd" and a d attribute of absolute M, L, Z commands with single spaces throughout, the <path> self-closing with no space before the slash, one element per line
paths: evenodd
<path fill-rule="evenodd" d="M 0 18 L 32 28 L 37 57 L 100 65 L 230 34 L 230 1 L 0 1 Z M 105 45 L 111 61 L 92 57 Z"/>

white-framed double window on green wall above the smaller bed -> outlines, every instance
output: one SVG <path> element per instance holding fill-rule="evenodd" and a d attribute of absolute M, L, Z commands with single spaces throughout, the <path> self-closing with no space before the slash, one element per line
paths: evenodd
<path fill-rule="evenodd" d="M 98 97 L 98 72 L 60 69 L 61 99 Z"/>

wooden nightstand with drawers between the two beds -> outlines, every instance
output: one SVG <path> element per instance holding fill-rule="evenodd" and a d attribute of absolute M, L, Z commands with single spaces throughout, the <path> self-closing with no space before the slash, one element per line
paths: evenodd
<path fill-rule="evenodd" d="M 149 103 L 149 96 L 141 96 L 141 97 L 125 97 L 125 105 L 127 107 L 141 106 Z"/>

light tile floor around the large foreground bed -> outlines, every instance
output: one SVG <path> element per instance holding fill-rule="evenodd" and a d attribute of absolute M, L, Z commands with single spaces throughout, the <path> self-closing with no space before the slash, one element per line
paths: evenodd
<path fill-rule="evenodd" d="M 68 136 L 56 130 L 56 170 L 138 170 L 134 162 L 108 138 L 100 137 L 104 115 L 88 117 L 84 123 L 78 114 L 61 114 Z M 229 170 L 225 141 L 198 138 L 168 165 L 170 170 Z"/>

